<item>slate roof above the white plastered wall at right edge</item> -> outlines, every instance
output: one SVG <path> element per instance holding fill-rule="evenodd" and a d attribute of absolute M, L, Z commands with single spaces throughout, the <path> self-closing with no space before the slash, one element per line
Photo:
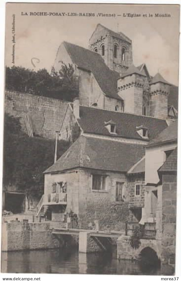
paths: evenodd
<path fill-rule="evenodd" d="M 155 139 L 151 140 L 149 145 L 155 145 L 162 142 L 177 141 L 178 138 L 178 120 L 171 123 Z"/>

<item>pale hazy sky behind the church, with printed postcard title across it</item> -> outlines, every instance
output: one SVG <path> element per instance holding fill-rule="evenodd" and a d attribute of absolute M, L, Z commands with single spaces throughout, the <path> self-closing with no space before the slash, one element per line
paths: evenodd
<path fill-rule="evenodd" d="M 30 15 L 33 12 L 84 12 L 95 15 Z M 98 13 L 110 13 L 115 16 L 102 17 Z M 128 13 L 141 16 L 124 17 L 124 14 Z M 170 17 L 155 17 L 155 13 L 170 14 Z M 13 14 L 15 33 L 12 32 Z M 143 17 L 143 14 L 147 17 Z M 149 14 L 153 17 L 149 17 Z M 61 42 L 68 41 L 88 48 L 89 38 L 98 23 L 116 32 L 119 30 L 132 40 L 135 66 L 145 63 L 150 75 L 154 76 L 160 72 L 167 81 L 178 85 L 178 5 L 7 3 L 5 64 L 13 65 L 12 36 L 15 34 L 15 65 L 35 70 L 46 68 L 50 71 Z"/>

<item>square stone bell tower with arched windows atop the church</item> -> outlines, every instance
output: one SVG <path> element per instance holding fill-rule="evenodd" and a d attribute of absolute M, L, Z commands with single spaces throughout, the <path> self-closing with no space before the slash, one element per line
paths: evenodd
<path fill-rule="evenodd" d="M 105 64 L 119 73 L 132 64 L 132 41 L 122 32 L 116 33 L 101 24 L 89 40 L 89 49 L 99 53 Z"/>

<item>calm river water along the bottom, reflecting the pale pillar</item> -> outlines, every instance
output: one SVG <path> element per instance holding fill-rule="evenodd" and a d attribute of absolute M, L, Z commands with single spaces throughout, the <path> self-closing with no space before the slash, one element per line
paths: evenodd
<path fill-rule="evenodd" d="M 159 275 L 159 269 L 117 260 L 115 253 L 79 253 L 77 248 L 3 252 L 1 272 Z"/>

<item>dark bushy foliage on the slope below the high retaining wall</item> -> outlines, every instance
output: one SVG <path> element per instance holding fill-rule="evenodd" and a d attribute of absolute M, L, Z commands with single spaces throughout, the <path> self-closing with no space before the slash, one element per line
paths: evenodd
<path fill-rule="evenodd" d="M 68 142 L 58 141 L 58 158 Z M 18 118 L 5 113 L 3 185 L 15 185 L 19 191 L 40 197 L 44 191 L 44 174 L 54 162 L 55 140 L 28 137 L 21 131 Z"/>

